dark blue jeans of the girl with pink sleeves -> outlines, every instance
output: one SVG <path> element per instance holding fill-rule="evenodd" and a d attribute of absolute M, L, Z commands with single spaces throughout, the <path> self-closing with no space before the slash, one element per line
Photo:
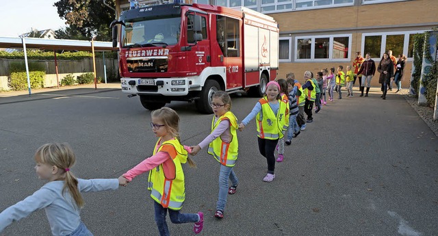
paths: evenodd
<path fill-rule="evenodd" d="M 166 214 L 167 211 L 169 211 L 169 218 L 170 221 L 174 224 L 182 224 L 182 223 L 189 223 L 189 222 L 198 222 L 199 221 L 199 215 L 198 214 L 192 214 L 192 213 L 180 213 L 179 211 L 174 211 L 168 208 L 164 208 L 161 204 L 158 202 L 154 202 L 155 207 L 155 222 L 158 226 L 159 235 L 170 235 L 169 228 L 166 223 Z"/>

